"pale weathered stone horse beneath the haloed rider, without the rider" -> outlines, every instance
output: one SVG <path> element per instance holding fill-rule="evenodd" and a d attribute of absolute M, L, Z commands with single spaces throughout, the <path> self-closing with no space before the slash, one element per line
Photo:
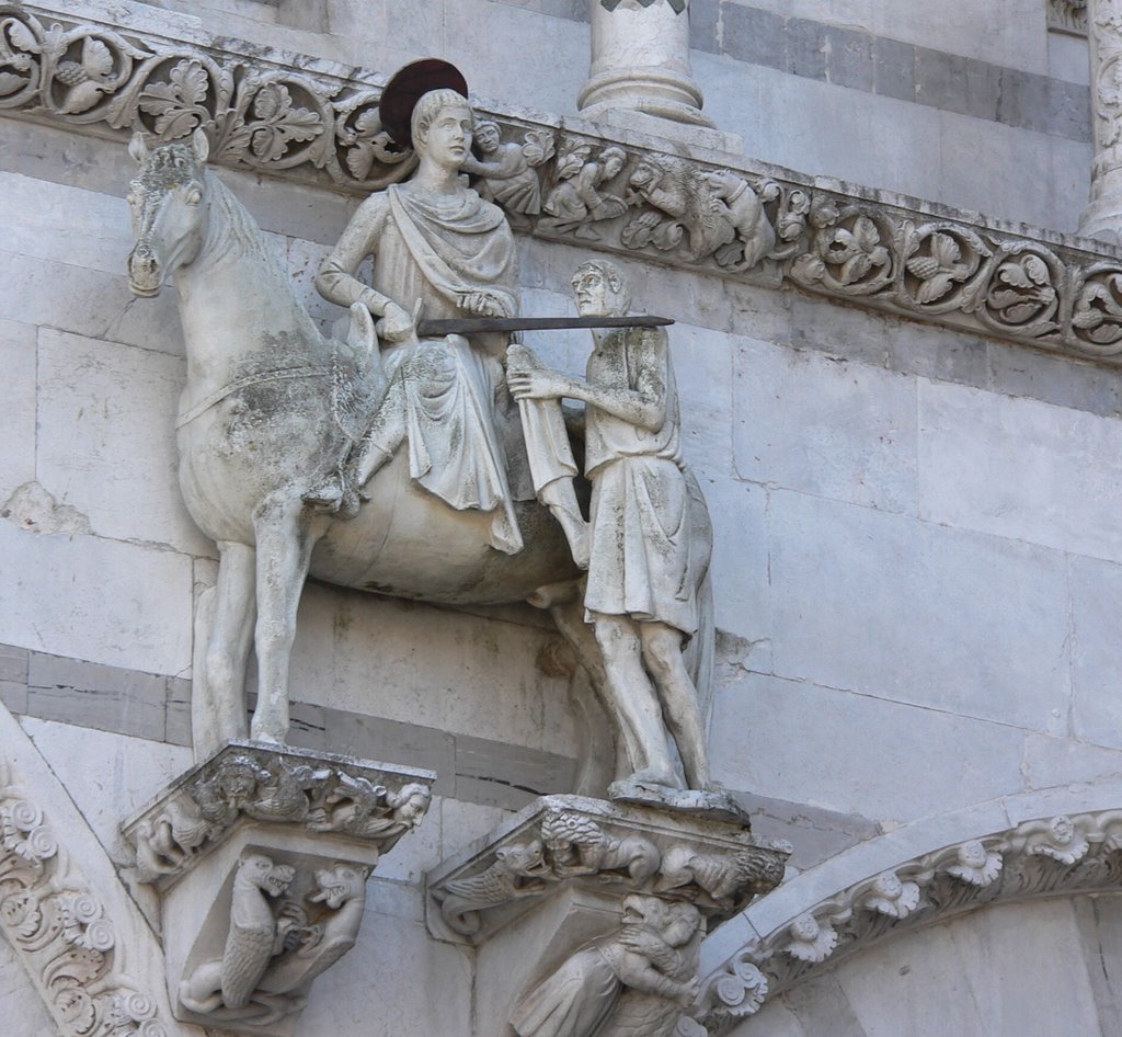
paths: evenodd
<path fill-rule="evenodd" d="M 140 167 L 129 193 L 129 285 L 150 297 L 174 278 L 187 355 L 176 422 L 180 485 L 219 550 L 217 585 L 196 618 L 200 632 L 209 622 L 192 698 L 196 759 L 246 735 L 251 646 L 259 683 L 249 736 L 284 743 L 289 654 L 309 575 L 453 606 L 534 600 L 568 617 L 559 628 L 599 685 L 596 643 L 581 628 L 581 573 L 536 501 L 516 502 L 524 547 L 515 554 L 490 545 L 490 514 L 453 508 L 417 486 L 407 450 L 373 476 L 356 517 L 306 502 L 365 432 L 355 401 L 376 405 L 386 394 L 369 311 L 350 308 L 346 336 L 319 330 L 260 228 L 206 167 L 201 130 L 190 144 L 155 148 L 137 134 L 129 152 Z"/>

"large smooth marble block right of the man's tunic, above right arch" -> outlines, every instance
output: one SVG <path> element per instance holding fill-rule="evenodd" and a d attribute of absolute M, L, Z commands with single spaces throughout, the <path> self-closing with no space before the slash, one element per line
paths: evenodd
<path fill-rule="evenodd" d="M 771 522 L 778 674 L 1061 729 L 1063 556 L 801 494 L 773 493 Z"/>

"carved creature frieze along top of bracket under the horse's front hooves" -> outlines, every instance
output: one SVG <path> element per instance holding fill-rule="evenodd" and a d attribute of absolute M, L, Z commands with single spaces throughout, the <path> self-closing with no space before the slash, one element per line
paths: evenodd
<path fill-rule="evenodd" d="M 424 817 L 434 778 L 231 742 L 121 827 L 136 851 L 137 878 L 163 890 L 222 844 L 239 819 L 343 836 L 387 853 Z"/>

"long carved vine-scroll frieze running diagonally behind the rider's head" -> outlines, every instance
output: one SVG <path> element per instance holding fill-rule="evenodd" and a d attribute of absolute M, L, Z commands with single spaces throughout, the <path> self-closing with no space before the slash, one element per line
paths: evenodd
<path fill-rule="evenodd" d="M 202 127 L 220 164 L 350 194 L 412 169 L 378 120 L 383 77 L 183 35 L 0 3 L 0 111 L 121 139 Z M 523 233 L 1122 365 L 1109 246 L 738 157 L 683 158 L 579 119 L 482 113 L 521 152 L 517 180 L 493 194 Z M 600 203 L 577 204 L 578 182 Z"/>

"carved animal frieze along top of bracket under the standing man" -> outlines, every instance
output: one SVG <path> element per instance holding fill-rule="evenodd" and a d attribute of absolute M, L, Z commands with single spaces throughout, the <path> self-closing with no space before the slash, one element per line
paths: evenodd
<path fill-rule="evenodd" d="M 481 852 L 430 874 L 430 929 L 482 943 L 535 899 L 573 882 L 686 900 L 706 918 L 726 918 L 779 885 L 788 853 L 730 822 L 546 796 Z"/>

